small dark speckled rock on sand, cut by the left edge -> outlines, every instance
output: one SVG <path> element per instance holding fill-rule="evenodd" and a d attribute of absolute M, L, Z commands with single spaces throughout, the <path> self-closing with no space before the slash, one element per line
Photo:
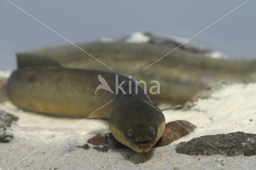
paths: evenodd
<path fill-rule="evenodd" d="M 18 117 L 5 111 L 0 111 L 0 143 L 7 143 L 12 140 L 13 135 L 8 130 L 13 121 L 18 121 Z"/>

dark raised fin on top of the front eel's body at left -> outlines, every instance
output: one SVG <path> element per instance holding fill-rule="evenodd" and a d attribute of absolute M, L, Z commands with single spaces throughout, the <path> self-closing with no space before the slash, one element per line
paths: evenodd
<path fill-rule="evenodd" d="M 30 53 L 16 53 L 17 67 L 62 67 L 51 57 Z"/>

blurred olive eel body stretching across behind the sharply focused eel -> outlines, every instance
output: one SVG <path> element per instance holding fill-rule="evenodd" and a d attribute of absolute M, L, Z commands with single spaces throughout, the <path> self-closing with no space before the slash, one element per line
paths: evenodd
<path fill-rule="evenodd" d="M 131 75 L 134 80 L 146 81 L 147 85 L 152 80 L 159 81 L 161 93 L 148 93 L 154 103 L 183 104 L 216 81 L 234 79 L 240 83 L 256 82 L 256 59 L 212 58 L 180 47 L 172 51 L 175 46 L 170 43 L 91 42 L 77 45 L 114 69 L 114 72 Z M 46 55 L 64 67 L 111 71 L 74 45 L 49 47 L 17 55 Z M 142 70 L 164 55 L 157 63 Z M 144 89 L 149 92 L 149 88 Z"/>

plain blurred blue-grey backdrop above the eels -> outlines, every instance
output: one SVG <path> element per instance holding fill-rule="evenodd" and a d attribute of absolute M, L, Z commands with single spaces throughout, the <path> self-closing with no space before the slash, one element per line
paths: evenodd
<path fill-rule="evenodd" d="M 150 31 L 191 38 L 245 0 L 10 0 L 68 40 L 90 42 Z M 250 0 L 191 42 L 232 57 L 256 57 L 256 1 Z M 15 53 L 66 40 L 0 0 L 0 70 L 16 67 Z"/>

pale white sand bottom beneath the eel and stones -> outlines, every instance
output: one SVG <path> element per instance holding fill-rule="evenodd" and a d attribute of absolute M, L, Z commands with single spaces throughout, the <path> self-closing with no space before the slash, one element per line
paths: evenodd
<path fill-rule="evenodd" d="M 108 132 L 107 121 L 86 119 L 68 130 L 81 119 L 28 113 L 9 102 L 0 104 L 0 110 L 19 117 L 16 125 L 12 125 L 14 139 L 6 144 L 0 143 L 0 170 L 12 167 L 30 154 L 13 169 L 244 169 L 240 164 L 248 169 L 256 167 L 256 156 L 189 156 L 177 154 L 174 150 L 177 143 L 197 136 L 236 131 L 256 133 L 256 84 L 225 87 L 215 92 L 212 98 L 199 100 L 191 111 L 165 111 L 166 122 L 186 120 L 197 128 L 194 134 L 168 146 L 152 149 L 149 153 L 128 149 L 110 149 L 102 153 L 92 148 L 76 147 L 86 144 L 98 133 Z"/>

